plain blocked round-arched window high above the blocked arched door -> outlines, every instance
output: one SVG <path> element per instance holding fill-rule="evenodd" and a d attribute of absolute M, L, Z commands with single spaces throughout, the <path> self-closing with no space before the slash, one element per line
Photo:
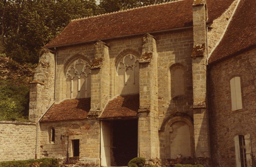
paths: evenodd
<path fill-rule="evenodd" d="M 169 66 L 169 97 L 172 100 L 184 99 L 186 94 L 185 66 L 181 63 L 174 63 Z"/>

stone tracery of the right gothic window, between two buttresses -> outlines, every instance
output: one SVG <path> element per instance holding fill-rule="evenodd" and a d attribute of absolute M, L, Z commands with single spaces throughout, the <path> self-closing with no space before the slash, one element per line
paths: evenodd
<path fill-rule="evenodd" d="M 125 85 L 127 85 L 127 73 L 126 71 L 129 69 L 133 70 L 133 84 L 135 84 L 135 67 L 137 66 L 136 63 L 139 61 L 139 59 L 132 55 L 127 54 L 124 56 L 118 63 L 117 69 L 116 69 L 116 76 L 118 76 L 118 71 L 123 68 L 124 69 L 124 78 L 125 78 Z"/>

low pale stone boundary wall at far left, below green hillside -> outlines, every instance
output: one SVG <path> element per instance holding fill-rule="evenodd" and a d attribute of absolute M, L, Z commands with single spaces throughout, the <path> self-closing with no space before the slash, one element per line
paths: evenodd
<path fill-rule="evenodd" d="M 34 159 L 36 124 L 0 121 L 0 161 Z"/>

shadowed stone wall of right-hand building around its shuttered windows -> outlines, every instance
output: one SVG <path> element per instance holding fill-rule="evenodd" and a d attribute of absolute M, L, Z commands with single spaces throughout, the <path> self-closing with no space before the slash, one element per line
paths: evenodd
<path fill-rule="evenodd" d="M 256 49 L 210 64 L 210 117 L 213 166 L 236 166 L 234 137 L 251 134 L 256 163 Z M 231 108 L 230 80 L 240 76 L 243 109 Z"/>

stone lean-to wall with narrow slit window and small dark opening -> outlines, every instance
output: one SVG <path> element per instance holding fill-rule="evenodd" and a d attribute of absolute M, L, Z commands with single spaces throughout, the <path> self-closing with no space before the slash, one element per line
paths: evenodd
<path fill-rule="evenodd" d="M 55 141 L 51 141 L 51 129 L 55 129 Z M 65 159 L 67 154 L 67 137 L 69 135 L 69 156 L 72 157 L 73 139 L 79 141 L 79 157 L 82 164 L 100 164 L 100 124 L 98 120 L 70 120 L 40 122 L 40 156 Z"/>

